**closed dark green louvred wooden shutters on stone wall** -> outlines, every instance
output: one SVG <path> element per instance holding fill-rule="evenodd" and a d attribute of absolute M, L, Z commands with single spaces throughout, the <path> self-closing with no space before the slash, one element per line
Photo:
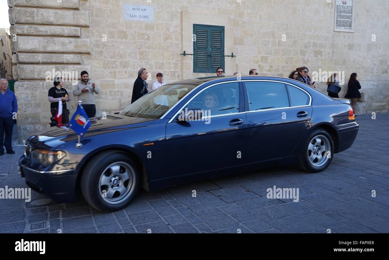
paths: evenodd
<path fill-rule="evenodd" d="M 193 72 L 215 73 L 224 69 L 224 26 L 193 25 Z"/>

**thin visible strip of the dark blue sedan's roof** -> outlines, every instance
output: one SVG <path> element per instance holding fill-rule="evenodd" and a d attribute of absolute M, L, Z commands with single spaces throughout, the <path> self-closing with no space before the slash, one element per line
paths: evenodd
<path fill-rule="evenodd" d="M 198 77 L 198 78 L 194 78 L 194 79 L 185 79 L 185 80 L 182 80 L 182 81 L 175 81 L 175 82 L 172 82 L 172 83 L 169 83 L 170 84 L 193 84 L 193 85 L 200 85 L 200 84 L 203 84 L 203 83 L 206 83 L 206 82 L 211 82 L 211 81 L 214 81 L 214 83 L 218 83 L 218 82 L 224 82 L 224 81 L 230 81 L 231 79 L 235 79 L 237 80 L 238 76 L 212 76 L 212 77 Z M 289 79 L 289 78 L 285 78 L 285 77 L 272 77 L 272 76 L 249 76 L 249 75 L 246 75 L 246 76 L 240 76 L 240 80 L 247 80 L 247 79 L 251 79 L 251 80 L 255 80 L 255 79 L 262 79 L 262 80 L 279 80 L 279 79 L 283 79 L 283 80 L 289 80 L 289 81 L 296 81 L 294 79 Z M 299 81 L 296 81 L 296 82 L 299 82 Z"/>

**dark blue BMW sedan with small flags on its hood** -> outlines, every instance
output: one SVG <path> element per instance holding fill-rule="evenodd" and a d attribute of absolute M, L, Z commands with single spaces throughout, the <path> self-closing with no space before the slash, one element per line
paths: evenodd
<path fill-rule="evenodd" d="M 96 120 L 81 148 L 63 128 L 30 137 L 19 160 L 28 186 L 57 202 L 74 201 L 81 189 L 91 206 L 115 211 L 140 188 L 282 165 L 320 172 L 359 128 L 349 100 L 259 76 L 167 84 Z"/>

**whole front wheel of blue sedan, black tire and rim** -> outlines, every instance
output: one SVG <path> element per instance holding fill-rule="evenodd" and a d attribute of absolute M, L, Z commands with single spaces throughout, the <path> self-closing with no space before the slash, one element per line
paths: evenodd
<path fill-rule="evenodd" d="M 102 212 L 112 212 L 130 204 L 140 187 L 140 170 L 122 151 L 106 151 L 86 163 L 81 176 L 81 192 L 88 204 Z"/>

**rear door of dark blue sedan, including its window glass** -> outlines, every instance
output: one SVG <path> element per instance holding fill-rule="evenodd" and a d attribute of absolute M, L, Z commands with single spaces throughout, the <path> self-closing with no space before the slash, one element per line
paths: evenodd
<path fill-rule="evenodd" d="M 307 130 L 311 97 L 277 81 L 245 81 L 248 162 L 290 156 Z"/>

